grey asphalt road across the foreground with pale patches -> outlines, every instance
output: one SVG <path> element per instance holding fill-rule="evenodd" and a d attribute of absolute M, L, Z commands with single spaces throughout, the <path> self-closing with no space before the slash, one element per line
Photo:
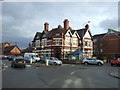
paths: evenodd
<path fill-rule="evenodd" d="M 63 64 L 53 67 L 11 68 L 3 61 L 2 88 L 118 88 L 118 78 L 109 75 L 118 67 Z"/>

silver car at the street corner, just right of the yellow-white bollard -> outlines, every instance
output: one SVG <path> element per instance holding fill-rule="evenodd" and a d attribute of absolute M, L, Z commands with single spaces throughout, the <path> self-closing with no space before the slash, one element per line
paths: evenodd
<path fill-rule="evenodd" d="M 48 60 L 50 65 L 62 65 L 62 61 L 55 57 L 46 57 L 45 62 Z"/>

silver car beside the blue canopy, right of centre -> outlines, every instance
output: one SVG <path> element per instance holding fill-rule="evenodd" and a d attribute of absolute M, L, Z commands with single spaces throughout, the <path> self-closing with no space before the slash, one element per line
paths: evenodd
<path fill-rule="evenodd" d="M 104 62 L 102 60 L 97 60 L 95 58 L 84 58 L 82 63 L 85 65 L 96 64 L 98 66 L 101 66 L 104 64 Z"/>

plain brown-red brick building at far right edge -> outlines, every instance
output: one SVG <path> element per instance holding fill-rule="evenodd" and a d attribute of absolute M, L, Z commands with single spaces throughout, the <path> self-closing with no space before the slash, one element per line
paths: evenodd
<path fill-rule="evenodd" d="M 94 55 L 101 57 L 120 56 L 120 32 L 108 29 L 107 33 L 93 36 Z"/>

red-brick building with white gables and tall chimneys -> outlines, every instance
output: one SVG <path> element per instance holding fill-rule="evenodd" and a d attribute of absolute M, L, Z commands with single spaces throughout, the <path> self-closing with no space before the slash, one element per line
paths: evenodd
<path fill-rule="evenodd" d="M 63 27 L 49 30 L 49 24 L 44 24 L 44 30 L 37 32 L 33 39 L 34 52 L 44 56 L 53 56 L 59 59 L 66 59 L 66 55 L 77 49 L 86 52 L 89 56 L 93 53 L 92 35 L 89 25 L 85 28 L 74 30 L 69 26 L 68 19 L 63 22 Z"/>

